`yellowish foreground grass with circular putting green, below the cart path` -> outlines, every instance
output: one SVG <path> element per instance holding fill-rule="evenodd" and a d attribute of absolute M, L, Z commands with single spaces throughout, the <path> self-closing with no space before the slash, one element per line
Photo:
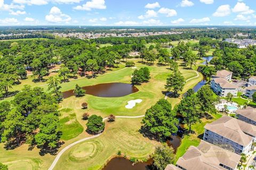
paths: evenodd
<path fill-rule="evenodd" d="M 127 157 L 147 158 L 157 142 L 138 132 L 141 118 L 116 118 L 106 123 L 105 132 L 93 140 L 79 143 L 63 154 L 54 169 L 100 169 L 118 150 Z"/>

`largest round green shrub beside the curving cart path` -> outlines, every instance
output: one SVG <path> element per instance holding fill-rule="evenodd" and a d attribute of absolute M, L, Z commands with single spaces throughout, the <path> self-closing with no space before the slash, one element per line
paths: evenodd
<path fill-rule="evenodd" d="M 102 122 L 103 118 L 101 116 L 92 115 L 88 118 L 88 122 L 86 123 L 87 129 L 86 131 L 91 134 L 99 134 L 105 128 L 105 123 Z"/>

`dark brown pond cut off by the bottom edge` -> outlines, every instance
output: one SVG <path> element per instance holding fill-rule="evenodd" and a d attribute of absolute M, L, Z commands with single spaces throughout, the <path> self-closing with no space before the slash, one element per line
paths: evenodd
<path fill-rule="evenodd" d="M 149 159 L 147 162 L 134 164 L 125 158 L 115 157 L 111 159 L 102 170 L 150 170 L 153 160 Z"/>

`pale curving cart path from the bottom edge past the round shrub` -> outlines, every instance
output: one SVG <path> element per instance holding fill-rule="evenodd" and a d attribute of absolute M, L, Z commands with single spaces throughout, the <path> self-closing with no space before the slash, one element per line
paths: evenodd
<path fill-rule="evenodd" d="M 145 115 L 140 115 L 140 116 L 116 116 L 116 118 L 140 118 L 140 117 L 144 117 Z M 103 118 L 103 122 L 106 121 L 108 119 L 108 117 L 105 117 Z M 81 142 L 84 142 L 86 140 L 90 140 L 90 139 L 93 139 L 93 138 L 98 138 L 100 134 L 97 134 L 97 135 L 93 135 L 91 137 L 87 137 L 87 138 L 84 138 L 84 139 L 81 139 L 81 140 L 78 140 L 74 143 L 71 143 L 69 144 L 68 146 L 66 146 L 65 148 L 63 148 L 59 153 L 58 155 L 55 157 L 55 159 L 53 160 L 53 163 L 52 165 L 50 166 L 50 168 L 48 170 L 53 170 L 53 168 L 55 167 L 55 165 L 58 163 L 58 160 L 60 159 L 61 155 L 66 151 L 68 150 L 69 148 L 73 147 L 74 145 L 77 145 L 78 143 L 81 143 Z"/>

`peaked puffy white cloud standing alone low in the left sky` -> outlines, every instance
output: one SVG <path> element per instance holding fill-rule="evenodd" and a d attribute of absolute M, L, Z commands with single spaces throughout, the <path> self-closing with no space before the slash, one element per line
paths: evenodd
<path fill-rule="evenodd" d="M 50 13 L 45 16 L 45 20 L 52 23 L 68 23 L 71 20 L 71 18 L 69 15 L 63 14 L 58 7 L 53 6 L 51 8 Z"/>

